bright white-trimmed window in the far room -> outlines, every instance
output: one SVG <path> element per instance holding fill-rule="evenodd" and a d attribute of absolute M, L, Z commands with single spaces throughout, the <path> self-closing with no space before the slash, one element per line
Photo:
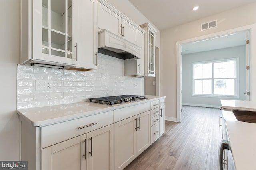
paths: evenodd
<path fill-rule="evenodd" d="M 237 96 L 238 58 L 192 63 L 193 94 Z"/>

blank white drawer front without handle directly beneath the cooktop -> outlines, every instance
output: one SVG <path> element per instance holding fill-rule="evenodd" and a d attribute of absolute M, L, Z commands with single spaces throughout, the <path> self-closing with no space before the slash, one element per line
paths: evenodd
<path fill-rule="evenodd" d="M 118 122 L 129 117 L 138 115 L 140 113 L 150 110 L 150 102 L 144 104 L 138 104 L 135 106 L 124 107 L 114 110 L 114 122 Z"/>

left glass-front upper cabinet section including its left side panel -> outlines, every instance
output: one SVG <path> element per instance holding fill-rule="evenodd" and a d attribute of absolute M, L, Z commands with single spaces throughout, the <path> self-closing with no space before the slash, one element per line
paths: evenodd
<path fill-rule="evenodd" d="M 21 1 L 20 63 L 74 66 L 70 0 Z"/>

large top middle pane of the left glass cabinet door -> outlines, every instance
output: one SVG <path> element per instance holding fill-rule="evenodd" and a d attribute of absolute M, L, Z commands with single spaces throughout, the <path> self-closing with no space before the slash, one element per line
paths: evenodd
<path fill-rule="evenodd" d="M 66 4 L 65 0 L 51 0 L 51 28 L 65 33 Z"/>

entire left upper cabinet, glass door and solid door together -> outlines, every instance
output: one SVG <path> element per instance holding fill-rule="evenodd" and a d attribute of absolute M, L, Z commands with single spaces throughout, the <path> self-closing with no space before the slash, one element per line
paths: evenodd
<path fill-rule="evenodd" d="M 96 69 L 97 2 L 22 0 L 20 64 Z"/>

